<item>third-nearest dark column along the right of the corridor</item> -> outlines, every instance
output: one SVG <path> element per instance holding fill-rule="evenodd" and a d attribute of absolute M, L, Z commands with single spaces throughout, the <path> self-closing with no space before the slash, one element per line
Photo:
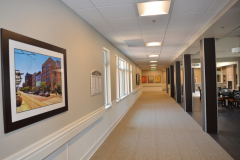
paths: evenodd
<path fill-rule="evenodd" d="M 176 102 L 182 103 L 182 86 L 181 86 L 181 63 L 175 62 L 175 84 L 176 84 Z"/>

